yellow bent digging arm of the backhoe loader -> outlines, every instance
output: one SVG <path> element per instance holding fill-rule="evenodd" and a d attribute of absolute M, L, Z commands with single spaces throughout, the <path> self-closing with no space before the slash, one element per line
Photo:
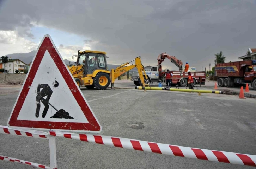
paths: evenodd
<path fill-rule="evenodd" d="M 131 63 L 134 60 L 135 60 L 135 65 L 130 65 L 130 66 L 124 67 L 125 65 L 128 65 L 129 63 Z M 129 71 L 129 70 L 131 70 L 135 67 L 138 69 L 139 76 L 140 76 L 140 81 L 141 81 L 141 84 L 143 85 L 143 87 L 145 87 L 146 85 L 149 86 L 149 83 L 148 84 L 144 83 L 143 72 L 145 74 L 145 78 L 146 78 L 147 82 L 148 82 L 148 78 L 146 76 L 144 66 L 141 64 L 140 56 L 136 57 L 134 60 L 132 60 L 130 62 L 123 63 L 120 66 L 118 66 L 116 69 L 111 69 L 111 72 L 110 72 L 111 89 L 114 89 L 114 82 L 115 82 L 116 78 L 118 78 L 119 76 L 121 76 L 125 72 L 127 72 L 127 71 Z"/>

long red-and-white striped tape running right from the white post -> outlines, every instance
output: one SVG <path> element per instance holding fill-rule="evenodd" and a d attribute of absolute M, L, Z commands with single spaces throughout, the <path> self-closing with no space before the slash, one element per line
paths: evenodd
<path fill-rule="evenodd" d="M 76 139 L 97 144 L 110 145 L 132 150 L 154 152 L 159 154 L 224 162 L 231 164 L 249 165 L 256 167 L 256 155 L 239 154 L 225 151 L 197 149 L 177 145 L 146 142 L 128 138 L 100 136 L 91 134 L 73 134 L 57 131 L 49 131 L 50 135 Z"/>

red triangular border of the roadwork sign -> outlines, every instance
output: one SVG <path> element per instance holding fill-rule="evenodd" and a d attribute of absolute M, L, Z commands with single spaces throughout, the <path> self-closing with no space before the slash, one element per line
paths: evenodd
<path fill-rule="evenodd" d="M 48 35 L 49 36 L 49 35 Z M 52 43 L 51 38 L 45 35 L 41 45 L 38 47 L 36 57 L 33 59 L 32 65 L 26 77 L 26 81 L 23 84 L 23 88 L 19 93 L 16 104 L 12 111 L 8 126 L 10 127 L 22 127 L 22 128 L 38 128 L 38 129 L 55 129 L 55 130 L 79 130 L 84 132 L 95 131 L 100 132 L 101 126 L 98 123 L 96 117 L 93 115 L 89 104 L 87 105 L 85 98 L 82 96 L 80 89 L 74 82 L 73 77 L 69 73 L 66 65 L 63 63 L 61 56 L 55 49 L 55 45 Z M 31 121 L 31 120 L 18 120 L 19 112 L 29 92 L 29 86 L 31 86 L 33 79 L 35 78 L 38 67 L 43 59 L 43 56 L 48 50 L 51 58 L 54 60 L 57 68 L 67 83 L 69 90 L 72 92 L 75 100 L 83 111 L 85 117 L 89 123 L 77 123 L 77 122 L 50 122 L 50 121 Z"/>

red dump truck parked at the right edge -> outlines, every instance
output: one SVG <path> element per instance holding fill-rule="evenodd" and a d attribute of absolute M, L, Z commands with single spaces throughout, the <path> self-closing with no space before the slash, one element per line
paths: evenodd
<path fill-rule="evenodd" d="M 248 83 L 256 90 L 256 60 L 218 63 L 215 66 L 220 87 L 239 87 Z"/>

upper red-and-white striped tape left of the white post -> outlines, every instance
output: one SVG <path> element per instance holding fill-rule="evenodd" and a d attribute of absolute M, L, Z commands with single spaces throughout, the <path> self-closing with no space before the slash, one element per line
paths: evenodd
<path fill-rule="evenodd" d="M 35 137 L 35 138 L 43 138 L 48 139 L 49 137 L 54 137 L 49 135 L 47 132 L 37 131 L 37 130 L 29 130 L 29 129 L 12 129 L 8 126 L 0 125 L 0 133 L 3 134 L 11 134 L 11 135 L 19 135 L 26 137 Z"/>

